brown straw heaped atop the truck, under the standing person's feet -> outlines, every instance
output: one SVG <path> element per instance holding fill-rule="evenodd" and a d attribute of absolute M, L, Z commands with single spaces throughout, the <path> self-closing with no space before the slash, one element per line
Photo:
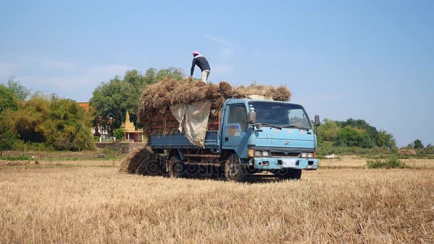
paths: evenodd
<path fill-rule="evenodd" d="M 216 85 L 190 78 L 181 81 L 168 78 L 146 87 L 141 94 L 138 117 L 146 123 L 149 113 L 166 110 L 173 104 L 208 100 L 213 103 L 213 108 L 219 108 L 227 98 L 248 98 L 252 95 L 273 98 L 275 101 L 291 99 L 291 91 L 285 86 L 263 86 L 253 83 L 250 86 L 234 87 L 225 81 Z"/>

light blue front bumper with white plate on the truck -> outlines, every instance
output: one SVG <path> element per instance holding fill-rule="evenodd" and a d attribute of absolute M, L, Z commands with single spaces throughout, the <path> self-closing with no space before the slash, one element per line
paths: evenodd
<path fill-rule="evenodd" d="M 297 168 L 314 171 L 320 161 L 316 158 L 251 158 L 250 166 L 262 170 L 276 170 L 281 168 Z"/>

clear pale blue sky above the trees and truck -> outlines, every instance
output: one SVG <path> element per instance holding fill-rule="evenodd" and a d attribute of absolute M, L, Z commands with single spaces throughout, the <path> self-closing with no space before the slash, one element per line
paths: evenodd
<path fill-rule="evenodd" d="M 313 116 L 434 144 L 434 1 L 2 1 L 0 81 L 88 101 L 136 68 L 286 85 Z M 196 68 L 195 76 L 199 73 Z"/>

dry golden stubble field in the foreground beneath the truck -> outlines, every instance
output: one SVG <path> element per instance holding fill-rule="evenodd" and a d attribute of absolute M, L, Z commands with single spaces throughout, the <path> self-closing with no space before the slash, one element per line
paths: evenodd
<path fill-rule="evenodd" d="M 241 184 L 0 168 L 0 243 L 434 242 L 433 169 L 325 168 Z"/>

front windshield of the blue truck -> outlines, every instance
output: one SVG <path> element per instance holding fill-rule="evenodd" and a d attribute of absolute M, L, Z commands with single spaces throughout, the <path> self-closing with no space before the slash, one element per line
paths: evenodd
<path fill-rule="evenodd" d="M 297 104 L 252 101 L 249 110 L 256 112 L 256 123 L 270 124 L 282 128 L 312 128 L 304 108 Z"/>

